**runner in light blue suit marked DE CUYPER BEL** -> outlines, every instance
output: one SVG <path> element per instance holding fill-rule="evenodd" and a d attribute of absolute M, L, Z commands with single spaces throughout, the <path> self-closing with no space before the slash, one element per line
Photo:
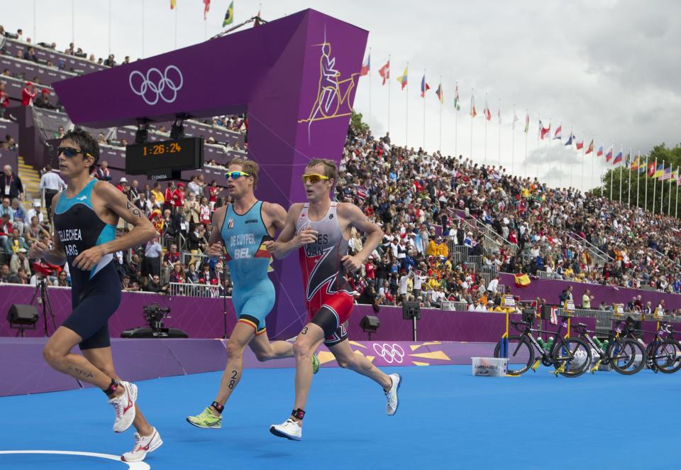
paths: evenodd
<path fill-rule="evenodd" d="M 286 211 L 279 204 L 258 201 L 253 194 L 258 185 L 258 163 L 234 159 L 225 174 L 232 203 L 219 207 L 213 215 L 209 239 L 211 258 L 224 256 L 233 282 L 232 302 L 237 323 L 227 341 L 227 365 L 220 390 L 210 406 L 187 422 L 203 429 L 222 427 L 225 403 L 239 383 L 243 353 L 250 346 L 259 361 L 293 357 L 293 344 L 267 339 L 265 317 L 275 305 L 275 286 L 267 276 L 272 258 L 267 246 L 282 229 Z M 319 361 L 312 358 L 313 371 Z"/>

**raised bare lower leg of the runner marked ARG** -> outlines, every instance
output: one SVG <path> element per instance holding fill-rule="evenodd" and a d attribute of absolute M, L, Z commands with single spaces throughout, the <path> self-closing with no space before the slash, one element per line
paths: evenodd
<path fill-rule="evenodd" d="M 43 348 L 43 357 L 50 367 L 65 373 L 79 381 L 92 383 L 92 385 L 106 390 L 111 385 L 112 376 L 96 368 L 86 357 L 80 354 L 73 354 L 71 350 L 83 341 L 79 334 L 67 327 L 59 327 L 57 331 L 48 339 Z M 123 387 L 119 387 L 114 392 L 114 396 L 123 395 Z"/>

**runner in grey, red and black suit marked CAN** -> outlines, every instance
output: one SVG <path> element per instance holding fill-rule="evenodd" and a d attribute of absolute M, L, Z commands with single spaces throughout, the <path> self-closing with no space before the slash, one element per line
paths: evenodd
<path fill-rule="evenodd" d="M 387 399 L 386 412 L 397 411 L 397 390 L 401 377 L 387 375 L 365 356 L 354 354 L 345 326 L 353 308 L 353 294 L 346 272 L 358 270 L 383 238 L 381 229 L 367 220 L 353 204 L 331 202 L 336 182 L 336 163 L 310 160 L 303 184 L 308 202 L 292 204 L 277 241 L 268 247 L 277 258 L 299 250 L 305 302 L 310 321 L 303 327 L 293 346 L 296 358 L 296 398 L 291 417 L 270 432 L 278 437 L 300 440 L 305 403 L 312 383 L 311 356 L 324 343 L 338 365 L 361 373 L 382 386 Z M 362 251 L 348 255 L 348 240 L 353 226 L 367 239 Z"/>

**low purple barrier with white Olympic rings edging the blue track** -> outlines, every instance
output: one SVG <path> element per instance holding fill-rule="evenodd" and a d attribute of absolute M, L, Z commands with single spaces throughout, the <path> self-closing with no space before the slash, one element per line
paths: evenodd
<path fill-rule="evenodd" d="M 43 360 L 43 338 L 0 338 L 0 396 L 91 387 L 50 368 Z M 472 356 L 491 356 L 492 343 L 427 341 L 350 341 L 355 354 L 376 366 L 446 366 L 470 364 Z M 129 381 L 221 371 L 226 363 L 224 341 L 211 339 L 114 339 L 111 344 L 119 376 Z M 74 351 L 77 351 L 75 349 Z M 338 367 L 333 354 L 321 346 L 322 367 Z M 145 358 L 140 361 L 140 357 Z M 245 368 L 293 368 L 294 359 L 260 362 L 244 352 Z M 291 371 L 293 376 L 293 371 Z"/>

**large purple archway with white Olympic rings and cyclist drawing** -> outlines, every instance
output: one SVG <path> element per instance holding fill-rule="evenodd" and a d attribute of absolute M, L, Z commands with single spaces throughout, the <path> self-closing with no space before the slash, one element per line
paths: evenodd
<path fill-rule="evenodd" d="M 54 87 L 74 124 L 94 128 L 248 113 L 256 195 L 288 208 L 305 199 L 308 160 L 341 159 L 367 35 L 309 9 Z M 306 315 L 295 258 L 274 265 L 273 337 L 294 336 Z"/>

